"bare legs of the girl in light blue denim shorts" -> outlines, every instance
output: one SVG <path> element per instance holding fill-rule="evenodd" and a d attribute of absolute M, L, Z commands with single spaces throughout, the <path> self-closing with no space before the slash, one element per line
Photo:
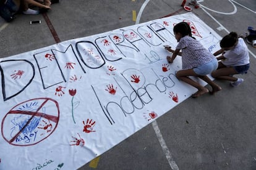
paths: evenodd
<path fill-rule="evenodd" d="M 208 78 L 207 75 L 205 76 L 197 75 L 193 69 L 177 71 L 176 76 L 178 79 L 181 79 L 187 84 L 190 84 L 191 86 L 198 89 L 198 91 L 195 92 L 195 94 L 193 94 L 192 97 L 199 97 L 200 95 L 208 93 L 209 91 L 206 87 L 203 87 L 201 84 L 197 83 L 193 79 L 190 79 L 188 76 L 197 76 L 198 78 L 203 79 L 203 81 L 207 82 L 212 87 L 211 94 L 215 94 L 215 92 L 218 92 L 221 90 L 221 87 L 218 86 L 218 84 L 211 81 L 211 79 Z"/>

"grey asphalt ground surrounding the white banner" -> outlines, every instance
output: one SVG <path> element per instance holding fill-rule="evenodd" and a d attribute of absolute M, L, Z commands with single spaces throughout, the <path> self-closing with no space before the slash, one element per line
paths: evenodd
<path fill-rule="evenodd" d="M 17 14 L 12 23 L 0 18 L 0 57 L 183 14 L 181 2 L 60 0 L 44 15 Z M 201 8 L 192 12 L 220 36 L 256 28 L 255 0 L 198 2 Z M 256 169 L 256 48 L 248 47 L 249 72 L 237 75 L 245 80 L 241 86 L 216 80 L 222 91 L 185 100 L 80 170 Z"/>

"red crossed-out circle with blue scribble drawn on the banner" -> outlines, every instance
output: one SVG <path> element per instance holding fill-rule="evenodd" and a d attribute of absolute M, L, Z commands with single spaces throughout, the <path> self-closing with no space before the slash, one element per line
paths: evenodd
<path fill-rule="evenodd" d="M 2 119 L 2 137 L 11 145 L 35 145 L 49 137 L 59 123 L 59 105 L 49 98 L 15 105 Z"/>

